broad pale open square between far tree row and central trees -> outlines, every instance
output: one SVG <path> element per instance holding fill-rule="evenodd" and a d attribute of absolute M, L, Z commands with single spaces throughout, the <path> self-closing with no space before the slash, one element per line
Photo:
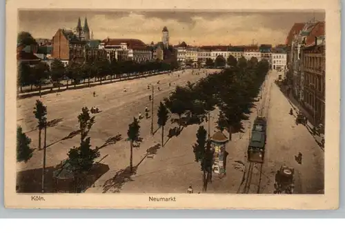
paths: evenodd
<path fill-rule="evenodd" d="M 217 70 L 208 70 L 215 72 Z M 108 145 L 100 150 L 102 163 L 109 165 L 109 172 L 103 178 L 111 177 L 112 173 L 126 168 L 129 165 L 130 145 L 127 138 L 128 124 L 132 117 L 138 117 L 139 112 L 144 116 L 144 110 L 147 106 L 150 110 L 149 95 L 152 89 L 148 90 L 147 85 L 155 87 L 155 108 L 154 108 L 154 128 L 157 130 L 157 106 L 159 101 L 175 89 L 176 85 L 185 85 L 187 81 L 197 81 L 205 77 L 203 72 L 200 75 L 191 74 L 191 70 L 186 72 L 178 71 L 173 74 L 160 74 L 147 79 L 135 79 L 107 85 L 97 85 L 92 88 L 83 88 L 80 90 L 69 90 L 61 92 L 60 95 L 47 94 L 41 101 L 48 107 L 48 121 L 56 121 L 57 125 L 48 128 L 47 136 L 47 167 L 55 166 L 63 159 L 67 158 L 67 152 L 73 146 L 79 143 L 79 136 L 72 139 L 64 139 L 71 132 L 77 130 L 77 115 L 81 108 L 95 106 L 99 108 L 100 113 L 96 114 L 96 123 L 90 131 L 92 146 L 100 147 L 106 143 L 111 136 L 121 134 L 121 140 L 115 145 Z M 157 81 L 160 81 L 157 84 Z M 171 87 L 169 87 L 169 83 Z M 158 90 L 158 87 L 160 90 Z M 124 92 L 126 88 L 127 92 Z M 92 96 L 95 91 L 97 97 Z M 32 113 L 34 103 L 38 97 L 19 99 L 17 101 L 17 123 L 23 127 L 23 132 L 32 139 L 32 147 L 38 147 L 38 130 L 35 130 L 37 120 Z M 166 129 L 170 128 L 170 121 Z M 174 125 L 175 126 L 175 125 Z M 167 134 L 167 133 L 166 133 Z M 160 139 L 160 131 L 156 134 Z M 137 164 L 146 153 L 146 150 L 155 144 L 155 138 L 150 136 L 150 119 L 141 119 L 141 137 L 144 142 L 140 148 L 135 148 L 133 163 Z M 43 133 L 42 133 L 43 138 Z M 64 139 L 64 140 L 63 140 Z M 160 141 L 159 141 L 160 142 Z M 157 143 L 156 143 L 157 144 Z M 20 163 L 17 170 L 30 170 L 41 168 L 43 152 L 35 150 L 34 156 L 28 163 Z M 99 181 L 101 182 L 101 180 Z"/>

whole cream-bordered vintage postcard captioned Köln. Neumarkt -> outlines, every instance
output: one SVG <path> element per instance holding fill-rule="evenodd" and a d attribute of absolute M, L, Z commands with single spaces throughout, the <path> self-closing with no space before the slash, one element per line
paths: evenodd
<path fill-rule="evenodd" d="M 8 1 L 6 207 L 337 209 L 339 2 L 216 2 Z"/>

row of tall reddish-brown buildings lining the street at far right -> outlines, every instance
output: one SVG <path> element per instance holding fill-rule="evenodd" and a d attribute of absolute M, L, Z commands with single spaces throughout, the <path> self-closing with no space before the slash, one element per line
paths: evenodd
<path fill-rule="evenodd" d="M 315 20 L 295 23 L 286 39 L 293 94 L 311 113 L 315 124 L 324 123 L 325 113 L 324 25 Z"/>

